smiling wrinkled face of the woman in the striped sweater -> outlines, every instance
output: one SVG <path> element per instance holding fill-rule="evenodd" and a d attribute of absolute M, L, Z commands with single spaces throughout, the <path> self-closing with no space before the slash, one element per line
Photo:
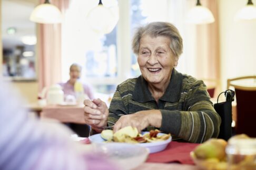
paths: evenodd
<path fill-rule="evenodd" d="M 168 37 L 151 37 L 145 35 L 140 40 L 140 49 L 137 61 L 144 79 L 154 84 L 170 82 L 172 69 L 178 63 L 170 48 L 171 40 Z"/>

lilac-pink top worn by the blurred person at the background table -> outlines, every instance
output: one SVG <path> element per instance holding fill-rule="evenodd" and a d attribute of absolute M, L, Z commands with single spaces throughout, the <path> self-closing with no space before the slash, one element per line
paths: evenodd
<path fill-rule="evenodd" d="M 61 85 L 65 95 L 70 94 L 70 95 L 76 96 L 74 86 L 70 84 L 69 81 L 65 83 L 59 83 L 59 84 Z M 83 88 L 84 88 L 84 93 L 87 94 L 90 99 L 94 99 L 93 88 L 89 84 L 85 84 L 85 83 L 83 84 Z"/>

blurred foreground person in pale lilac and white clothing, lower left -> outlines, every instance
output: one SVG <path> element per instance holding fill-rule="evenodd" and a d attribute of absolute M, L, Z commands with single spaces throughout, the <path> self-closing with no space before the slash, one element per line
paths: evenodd
<path fill-rule="evenodd" d="M 22 98 L 0 80 L 0 169 L 116 169 L 71 140 L 66 126 L 28 116 Z"/>

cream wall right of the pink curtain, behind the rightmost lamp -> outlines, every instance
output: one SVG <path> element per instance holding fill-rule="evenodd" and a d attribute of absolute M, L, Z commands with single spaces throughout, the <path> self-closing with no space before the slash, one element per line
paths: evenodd
<path fill-rule="evenodd" d="M 254 0 L 254 6 L 256 1 Z M 235 13 L 247 0 L 219 0 L 222 88 L 227 79 L 256 75 L 256 19 L 234 22 Z"/>

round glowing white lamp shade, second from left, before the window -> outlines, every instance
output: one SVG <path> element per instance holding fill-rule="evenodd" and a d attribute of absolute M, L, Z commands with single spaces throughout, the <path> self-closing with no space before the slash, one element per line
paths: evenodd
<path fill-rule="evenodd" d="M 87 15 L 90 27 L 99 34 L 110 33 L 119 20 L 119 9 L 117 6 L 107 8 L 102 4 L 97 5 Z"/>

